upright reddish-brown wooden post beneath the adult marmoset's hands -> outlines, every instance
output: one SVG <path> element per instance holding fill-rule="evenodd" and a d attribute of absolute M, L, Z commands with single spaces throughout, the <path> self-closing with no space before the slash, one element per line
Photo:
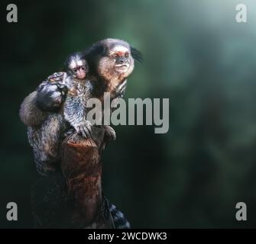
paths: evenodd
<path fill-rule="evenodd" d="M 95 131 L 93 139 L 83 139 L 76 133 L 68 136 L 62 145 L 61 169 L 68 197 L 75 202 L 72 221 L 79 226 L 111 228 L 109 210 L 102 199 L 101 154 L 105 130 Z"/>

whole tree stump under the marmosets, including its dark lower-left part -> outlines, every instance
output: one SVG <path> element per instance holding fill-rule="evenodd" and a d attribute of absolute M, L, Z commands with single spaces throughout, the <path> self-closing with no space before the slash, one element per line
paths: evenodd
<path fill-rule="evenodd" d="M 38 228 L 115 228 L 102 195 L 101 154 L 105 130 L 92 139 L 74 133 L 61 148 L 61 171 L 38 181 L 31 190 L 31 207 Z"/>

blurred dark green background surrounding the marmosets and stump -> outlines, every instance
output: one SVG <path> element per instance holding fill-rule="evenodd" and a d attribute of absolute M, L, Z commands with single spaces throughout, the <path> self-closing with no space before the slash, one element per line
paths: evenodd
<path fill-rule="evenodd" d="M 37 180 L 23 98 L 66 56 L 105 37 L 144 53 L 125 98 L 170 98 L 170 130 L 115 127 L 103 188 L 133 227 L 254 227 L 256 224 L 256 3 L 248 23 L 221 0 L 1 2 L 0 226 L 31 227 Z M 18 23 L 6 5 L 18 5 Z M 18 221 L 6 221 L 6 204 Z M 244 201 L 248 221 L 235 220 Z"/>

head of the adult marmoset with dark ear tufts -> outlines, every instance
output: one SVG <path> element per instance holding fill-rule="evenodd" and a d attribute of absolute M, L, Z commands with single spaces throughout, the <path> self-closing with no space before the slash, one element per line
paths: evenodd
<path fill-rule="evenodd" d="M 124 40 L 105 39 L 85 51 L 89 65 L 87 78 L 92 82 L 92 97 L 103 99 L 104 92 L 120 98 L 125 94 L 128 76 L 134 70 L 134 59 L 142 62 L 141 52 Z"/>

